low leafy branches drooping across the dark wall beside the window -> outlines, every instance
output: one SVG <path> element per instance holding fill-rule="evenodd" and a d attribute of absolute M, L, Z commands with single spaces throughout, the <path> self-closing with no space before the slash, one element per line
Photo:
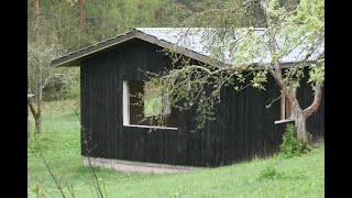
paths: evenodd
<path fill-rule="evenodd" d="M 242 90 L 249 86 L 264 89 L 266 81 L 264 70 L 243 70 L 234 67 L 216 67 L 208 64 L 194 65 L 190 59 L 165 50 L 165 53 L 173 59 L 173 69 L 165 69 L 161 73 L 148 73 L 147 81 L 157 82 L 162 90 L 167 90 L 169 105 L 179 111 L 194 108 L 196 116 L 196 129 L 204 129 L 207 121 L 215 120 L 216 106 L 221 102 L 221 90 L 224 87 L 235 87 Z M 248 76 L 253 76 L 251 81 Z M 148 96 L 152 95 L 152 96 Z M 145 92 L 143 98 L 157 98 L 157 91 Z M 165 116 L 167 117 L 167 116 Z M 166 121 L 165 117 L 158 118 L 161 123 Z M 164 124 L 162 124 L 164 125 Z"/>

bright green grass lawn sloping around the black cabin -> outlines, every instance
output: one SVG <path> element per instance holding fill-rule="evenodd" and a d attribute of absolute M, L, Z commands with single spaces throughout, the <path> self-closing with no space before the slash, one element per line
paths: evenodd
<path fill-rule="evenodd" d="M 58 103 L 65 103 L 61 108 Z M 44 113 L 43 147 L 54 175 L 75 197 L 98 197 L 91 170 L 82 165 L 74 101 L 50 103 Z M 31 124 L 33 121 L 31 122 Z M 95 168 L 108 197 L 324 197 L 324 146 L 300 157 L 253 160 L 186 174 L 136 174 Z M 33 139 L 29 142 L 29 197 L 61 197 Z M 106 190 L 105 190 L 106 189 Z M 38 193 L 36 193 L 38 191 Z"/>

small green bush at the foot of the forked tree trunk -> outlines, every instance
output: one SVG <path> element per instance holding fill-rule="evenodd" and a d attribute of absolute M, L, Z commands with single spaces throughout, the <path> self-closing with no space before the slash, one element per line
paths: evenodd
<path fill-rule="evenodd" d="M 282 154 L 286 157 L 293 157 L 302 153 L 308 153 L 311 150 L 311 135 L 308 133 L 308 143 L 297 140 L 296 128 L 294 124 L 287 124 L 283 135 L 283 144 L 280 145 Z"/>

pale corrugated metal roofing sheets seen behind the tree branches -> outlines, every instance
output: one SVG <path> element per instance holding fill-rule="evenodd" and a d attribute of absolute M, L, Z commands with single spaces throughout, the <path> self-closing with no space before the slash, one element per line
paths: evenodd
<path fill-rule="evenodd" d="M 155 36 L 157 40 L 163 40 L 166 41 L 168 43 L 175 44 L 175 45 L 179 45 L 184 48 L 187 48 L 189 51 L 194 51 L 198 54 L 205 55 L 205 56 L 209 56 L 211 57 L 211 50 L 209 47 L 211 47 L 211 43 L 209 43 L 209 36 L 212 36 L 213 30 L 212 29 L 205 29 L 205 28 L 136 28 L 135 30 L 139 30 L 145 34 Z M 246 29 L 238 29 L 237 30 L 237 35 L 241 36 L 241 34 L 243 35 L 243 33 L 245 32 L 244 30 Z M 253 29 L 254 33 L 256 35 L 263 35 L 265 32 L 265 29 Z M 267 40 L 267 37 L 265 35 L 263 35 L 264 40 Z M 276 38 L 278 42 L 278 46 L 283 46 L 284 44 L 284 40 L 282 38 Z M 235 45 L 233 47 L 237 47 Z M 298 46 L 295 50 L 293 50 L 289 54 L 287 54 L 286 56 L 282 57 L 282 63 L 296 63 L 299 59 L 302 59 L 304 56 L 306 56 L 307 52 L 302 51 L 304 48 L 307 47 L 302 47 L 302 46 Z M 232 53 L 231 53 L 232 52 Z M 227 64 L 234 64 L 235 59 L 233 56 L 233 52 L 234 48 L 224 48 L 223 50 L 223 57 L 222 58 L 218 58 L 219 61 L 227 63 Z M 310 61 L 316 61 L 316 58 L 318 57 L 319 54 L 321 54 L 323 52 L 323 45 L 319 47 L 318 51 L 316 51 L 315 54 L 312 54 L 309 58 L 308 62 Z M 266 53 L 266 57 L 264 58 L 254 58 L 253 62 L 254 63 L 271 63 L 271 55 L 270 52 L 267 50 L 267 52 L 263 52 Z"/>

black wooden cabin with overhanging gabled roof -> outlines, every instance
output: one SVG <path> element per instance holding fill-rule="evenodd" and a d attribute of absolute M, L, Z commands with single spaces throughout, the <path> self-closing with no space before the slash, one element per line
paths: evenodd
<path fill-rule="evenodd" d="M 135 100 L 131 94 L 147 91 L 143 89 L 146 77 L 141 70 L 172 67 L 170 58 L 161 50 L 183 54 L 194 65 L 209 59 L 201 37 L 190 35 L 190 45 L 178 42 L 177 35 L 183 32 L 184 29 L 134 29 L 52 62 L 53 66 L 80 67 L 81 155 L 100 165 L 110 163 L 111 167 L 121 162 L 215 167 L 279 151 L 286 124 L 293 121 L 286 118 L 289 108 L 283 108 L 280 100 L 266 109 L 279 96 L 271 76 L 265 91 L 251 87 L 239 92 L 223 89 L 216 120 L 201 132 L 190 132 L 195 129 L 194 109 L 170 109 L 165 128 L 139 122 L 138 114 L 143 109 L 131 105 Z M 285 63 L 285 67 L 295 66 L 292 57 Z M 297 95 L 302 108 L 312 102 L 309 85 L 301 85 Z M 308 131 L 315 138 L 324 134 L 323 108 L 322 97 L 319 111 L 308 119 Z"/>

